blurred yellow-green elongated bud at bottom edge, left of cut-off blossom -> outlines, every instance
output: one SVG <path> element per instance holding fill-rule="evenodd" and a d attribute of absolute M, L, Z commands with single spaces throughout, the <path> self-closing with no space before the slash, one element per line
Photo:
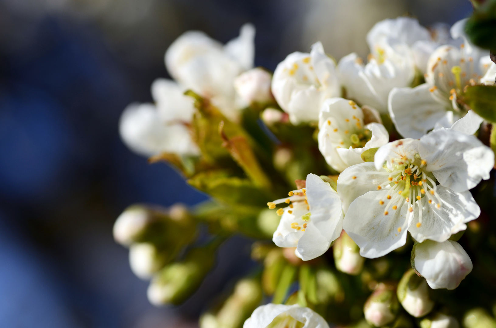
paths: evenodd
<path fill-rule="evenodd" d="M 200 318 L 200 328 L 239 328 L 262 300 L 260 284 L 254 279 L 242 279 L 234 287 L 220 310 Z"/>

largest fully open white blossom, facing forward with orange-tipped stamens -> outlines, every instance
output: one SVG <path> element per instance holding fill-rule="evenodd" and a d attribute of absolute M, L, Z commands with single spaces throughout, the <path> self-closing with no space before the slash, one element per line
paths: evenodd
<path fill-rule="evenodd" d="M 407 231 L 418 242 L 443 242 L 479 217 L 468 190 L 488 179 L 493 165 L 489 147 L 453 130 L 390 142 L 375 153 L 374 163 L 339 175 L 343 228 L 367 258 L 403 246 Z"/>

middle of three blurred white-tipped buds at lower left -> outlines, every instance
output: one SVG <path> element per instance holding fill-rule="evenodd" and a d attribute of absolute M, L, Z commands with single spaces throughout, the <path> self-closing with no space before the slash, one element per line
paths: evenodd
<path fill-rule="evenodd" d="M 129 265 L 136 276 L 141 279 L 150 278 L 167 262 L 167 256 L 154 244 L 136 243 L 129 247 Z"/>

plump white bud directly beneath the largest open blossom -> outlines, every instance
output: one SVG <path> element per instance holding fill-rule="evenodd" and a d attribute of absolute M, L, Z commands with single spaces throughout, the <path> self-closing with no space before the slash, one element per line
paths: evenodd
<path fill-rule="evenodd" d="M 455 289 L 472 271 L 472 261 L 456 241 L 438 243 L 426 240 L 412 250 L 414 269 L 427 279 L 433 289 Z"/>

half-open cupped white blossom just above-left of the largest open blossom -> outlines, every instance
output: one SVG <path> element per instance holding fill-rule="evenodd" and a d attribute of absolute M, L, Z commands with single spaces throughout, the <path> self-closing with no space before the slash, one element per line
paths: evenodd
<path fill-rule="evenodd" d="M 364 112 L 353 101 L 327 99 L 320 109 L 318 149 L 327 164 L 341 172 L 346 167 L 364 163 L 362 153 L 389 141 L 380 123 L 364 123 Z"/>

